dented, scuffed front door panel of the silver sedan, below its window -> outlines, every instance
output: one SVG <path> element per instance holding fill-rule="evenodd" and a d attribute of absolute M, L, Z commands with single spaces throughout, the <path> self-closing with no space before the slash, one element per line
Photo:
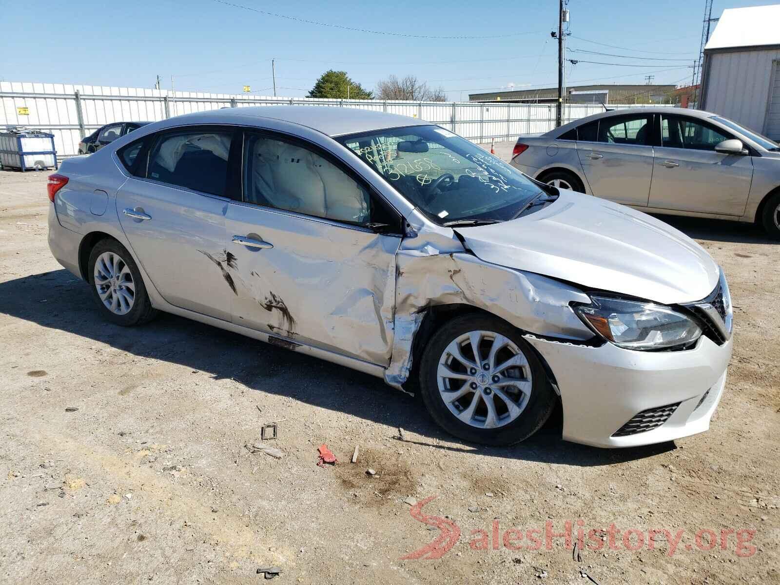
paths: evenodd
<path fill-rule="evenodd" d="M 233 322 L 387 365 L 400 238 L 231 202 Z"/>

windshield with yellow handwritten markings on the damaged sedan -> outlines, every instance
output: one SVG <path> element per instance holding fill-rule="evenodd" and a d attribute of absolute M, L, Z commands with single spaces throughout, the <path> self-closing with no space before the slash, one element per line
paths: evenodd
<path fill-rule="evenodd" d="M 439 225 L 503 222 L 542 191 L 493 154 L 438 126 L 337 137 Z"/>

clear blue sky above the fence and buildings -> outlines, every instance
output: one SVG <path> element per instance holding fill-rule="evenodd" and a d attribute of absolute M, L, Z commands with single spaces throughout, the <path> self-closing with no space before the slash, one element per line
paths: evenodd
<path fill-rule="evenodd" d="M 34 9 L 9 9 L 16 5 L 6 2 L 0 35 L 0 51 L 6 55 L 0 80 L 5 81 L 153 87 L 160 75 L 165 89 L 173 75 L 177 90 L 241 93 L 250 85 L 256 94 L 271 95 L 266 88 L 271 87 L 271 58 L 276 58 L 277 91 L 289 97 L 305 95 L 331 68 L 346 70 L 367 89 L 391 73 L 413 74 L 444 87 L 454 100 L 510 84 L 557 85 L 557 43 L 550 37 L 557 28 L 557 0 L 38 0 Z M 713 16 L 726 8 L 775 3 L 716 0 Z M 398 37 L 250 9 L 428 37 L 512 36 Z M 612 54 L 569 54 L 580 60 L 570 69 L 569 85 L 645 83 L 648 74 L 654 74 L 654 83 L 690 80 L 704 0 L 569 0 L 569 10 L 569 48 Z"/>

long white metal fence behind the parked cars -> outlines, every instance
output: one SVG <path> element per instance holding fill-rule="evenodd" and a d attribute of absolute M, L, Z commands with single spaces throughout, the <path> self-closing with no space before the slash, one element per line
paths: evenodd
<path fill-rule="evenodd" d="M 554 104 L 261 97 L 10 81 L 0 82 L 0 101 L 0 127 L 23 126 L 51 132 L 59 156 L 77 154 L 82 137 L 110 122 L 154 122 L 190 112 L 257 105 L 337 106 L 408 115 L 439 124 L 477 143 L 514 140 L 520 134 L 555 128 Z M 609 105 L 609 108 L 630 107 L 635 106 Z M 601 105 L 567 105 L 564 119 L 569 122 L 603 111 Z"/>

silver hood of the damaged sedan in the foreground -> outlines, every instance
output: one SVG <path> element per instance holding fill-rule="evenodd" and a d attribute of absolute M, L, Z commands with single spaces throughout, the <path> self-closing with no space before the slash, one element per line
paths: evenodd
<path fill-rule="evenodd" d="M 657 303 L 704 299 L 720 274 L 707 251 L 683 232 L 630 207 L 568 190 L 522 218 L 456 232 L 492 264 Z"/>

